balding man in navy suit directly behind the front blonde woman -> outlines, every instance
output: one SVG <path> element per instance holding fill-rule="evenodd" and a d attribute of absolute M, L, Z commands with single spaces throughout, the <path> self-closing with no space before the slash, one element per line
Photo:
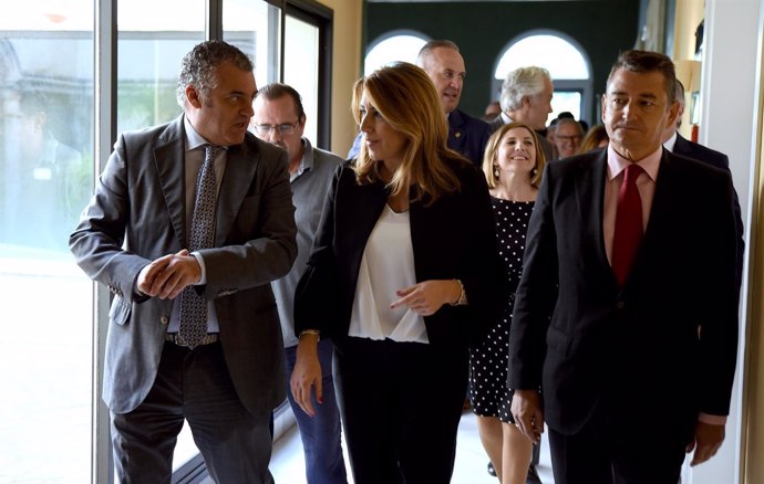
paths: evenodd
<path fill-rule="evenodd" d="M 448 117 L 448 148 L 464 155 L 476 167 L 482 167 L 485 146 L 493 129 L 486 122 L 456 108 L 467 75 L 458 46 L 448 40 L 430 41 L 420 50 L 416 65 L 427 73 L 441 96 Z M 362 138 L 362 133 L 359 131 L 348 152 L 349 159 L 358 156 Z"/>

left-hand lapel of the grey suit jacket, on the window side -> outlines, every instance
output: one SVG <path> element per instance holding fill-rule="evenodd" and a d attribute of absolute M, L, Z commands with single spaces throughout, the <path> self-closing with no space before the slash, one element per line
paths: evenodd
<path fill-rule="evenodd" d="M 186 244 L 186 199 L 185 199 L 185 147 L 183 116 L 167 126 L 154 148 L 154 164 L 159 177 L 162 193 L 167 204 L 167 213 L 175 230 L 178 244 Z"/>

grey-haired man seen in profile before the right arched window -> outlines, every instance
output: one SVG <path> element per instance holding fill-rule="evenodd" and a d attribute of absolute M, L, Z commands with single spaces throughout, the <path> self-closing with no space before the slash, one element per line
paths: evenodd
<path fill-rule="evenodd" d="M 551 113 L 554 86 L 549 71 L 544 67 L 518 67 L 507 74 L 502 83 L 499 104 L 502 113 L 489 122 L 496 130 L 505 124 L 525 123 L 537 131 L 546 128 L 547 117 Z M 544 136 L 538 136 L 544 157 L 554 159 L 553 146 Z"/>

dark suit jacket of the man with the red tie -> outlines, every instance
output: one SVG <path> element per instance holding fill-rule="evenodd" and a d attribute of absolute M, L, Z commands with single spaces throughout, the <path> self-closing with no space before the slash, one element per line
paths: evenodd
<path fill-rule="evenodd" d="M 567 435 L 605 411 L 628 433 L 647 421 L 689 439 L 699 412 L 730 408 L 732 180 L 663 150 L 644 239 L 619 286 L 602 231 L 606 173 L 605 149 L 545 167 L 515 297 L 508 386 L 540 387 L 549 428 Z M 649 394 L 661 404 L 644 404 Z"/>

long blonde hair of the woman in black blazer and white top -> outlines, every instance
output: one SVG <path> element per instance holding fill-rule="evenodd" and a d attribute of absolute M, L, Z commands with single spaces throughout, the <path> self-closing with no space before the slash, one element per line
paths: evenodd
<path fill-rule="evenodd" d="M 381 67 L 355 82 L 353 86 L 353 117 L 361 125 L 361 98 L 365 95 L 384 120 L 405 138 L 401 166 L 388 182 L 393 196 L 413 188 L 413 201 L 432 203 L 445 193 L 461 189 L 453 168 L 446 160 L 468 162 L 446 146 L 448 124 L 443 104 L 427 74 L 406 62 Z M 368 106 L 366 106 L 368 107 Z M 359 183 L 385 181 L 380 175 L 381 160 L 371 159 L 361 145 L 354 165 Z"/>

